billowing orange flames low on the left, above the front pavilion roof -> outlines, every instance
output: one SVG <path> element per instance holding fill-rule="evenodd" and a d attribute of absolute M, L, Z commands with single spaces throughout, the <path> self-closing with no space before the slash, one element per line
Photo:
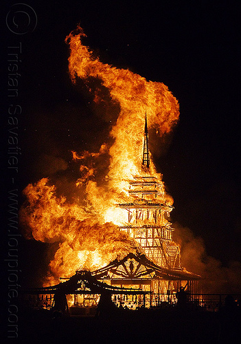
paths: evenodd
<path fill-rule="evenodd" d="M 65 197 L 56 197 L 55 186 L 47 182 L 43 178 L 25 188 L 28 202 L 21 209 L 21 220 L 29 230 L 29 239 L 60 242 L 49 264 L 54 276 L 70 277 L 80 267 L 94 270 L 128 252 L 137 252 L 135 242 L 115 224 L 104 223 L 82 206 L 68 204 Z"/>

